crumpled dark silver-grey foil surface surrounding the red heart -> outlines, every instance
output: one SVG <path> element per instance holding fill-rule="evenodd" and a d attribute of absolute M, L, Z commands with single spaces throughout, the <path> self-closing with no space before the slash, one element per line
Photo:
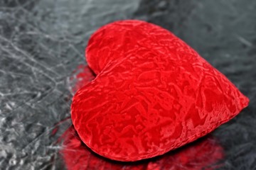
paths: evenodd
<path fill-rule="evenodd" d="M 77 84 L 84 76 L 91 78 L 78 72 L 86 65 L 87 40 L 100 26 L 121 19 L 171 30 L 250 98 L 250 106 L 211 134 L 223 148 L 213 168 L 256 169 L 255 9 L 253 0 L 1 0 L 0 169 L 70 169 L 63 157 L 70 154 L 63 152 L 67 141 L 60 138 L 72 128 L 70 103 Z M 186 157 L 194 153 L 177 152 Z M 97 160 L 92 159 L 97 168 L 112 169 L 106 166 L 112 164 L 105 163 L 109 160 Z M 146 164 L 202 169 L 198 162 L 183 166 L 184 161 L 177 160 L 168 156 Z M 149 166 L 139 164 L 137 169 Z"/>

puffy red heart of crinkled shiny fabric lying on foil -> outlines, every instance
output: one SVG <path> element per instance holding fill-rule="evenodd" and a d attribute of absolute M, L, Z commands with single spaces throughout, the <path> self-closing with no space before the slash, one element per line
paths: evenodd
<path fill-rule="evenodd" d="M 249 99 L 168 30 L 144 21 L 103 26 L 86 57 L 97 77 L 71 116 L 94 152 L 119 161 L 164 154 L 213 131 Z"/>

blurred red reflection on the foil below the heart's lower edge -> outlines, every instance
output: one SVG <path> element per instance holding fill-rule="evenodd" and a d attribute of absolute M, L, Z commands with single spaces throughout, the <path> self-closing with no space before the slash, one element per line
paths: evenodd
<path fill-rule="evenodd" d="M 221 166 L 223 148 L 212 136 L 206 136 L 185 147 L 159 157 L 139 162 L 116 162 L 92 152 L 71 126 L 60 137 L 60 154 L 67 169 L 215 169 Z"/>

